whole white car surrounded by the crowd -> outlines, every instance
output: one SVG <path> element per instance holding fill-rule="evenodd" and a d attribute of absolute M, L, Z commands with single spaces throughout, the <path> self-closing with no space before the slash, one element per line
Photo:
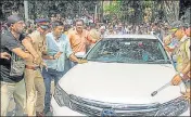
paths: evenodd
<path fill-rule="evenodd" d="M 190 115 L 180 93 L 186 86 L 168 83 L 176 70 L 154 36 L 107 36 L 85 58 L 88 63 L 73 67 L 55 87 L 53 116 Z"/>

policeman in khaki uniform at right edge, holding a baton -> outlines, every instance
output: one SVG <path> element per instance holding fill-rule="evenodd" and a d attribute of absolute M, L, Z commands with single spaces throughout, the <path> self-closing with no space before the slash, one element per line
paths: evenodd
<path fill-rule="evenodd" d="M 186 31 L 183 28 L 178 28 L 176 32 L 174 34 L 175 37 L 179 40 L 178 47 L 175 49 L 175 54 L 177 58 L 177 66 L 176 69 L 178 72 L 177 75 L 174 76 L 171 79 L 171 84 L 177 86 L 181 82 L 186 82 L 186 80 L 189 80 L 186 82 L 187 91 L 183 93 L 187 93 L 190 91 L 190 37 L 186 35 Z"/>

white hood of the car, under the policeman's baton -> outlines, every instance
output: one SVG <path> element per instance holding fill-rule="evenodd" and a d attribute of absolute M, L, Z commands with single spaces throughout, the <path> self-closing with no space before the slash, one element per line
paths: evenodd
<path fill-rule="evenodd" d="M 163 103 L 180 96 L 179 86 L 169 86 L 155 96 L 151 93 L 169 82 L 173 65 L 88 62 L 73 67 L 60 86 L 68 94 L 110 103 Z"/>

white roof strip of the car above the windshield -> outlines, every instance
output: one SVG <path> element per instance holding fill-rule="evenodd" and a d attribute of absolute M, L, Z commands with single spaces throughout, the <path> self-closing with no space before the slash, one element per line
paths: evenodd
<path fill-rule="evenodd" d="M 122 39 L 122 38 L 135 38 L 135 39 L 154 39 L 157 40 L 157 38 L 153 35 L 107 35 L 104 36 L 103 39 Z"/>

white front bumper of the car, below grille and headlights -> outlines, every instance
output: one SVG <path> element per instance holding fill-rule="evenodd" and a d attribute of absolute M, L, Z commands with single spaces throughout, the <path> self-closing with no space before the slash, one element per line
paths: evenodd
<path fill-rule="evenodd" d="M 75 110 L 72 110 L 66 106 L 63 106 L 63 107 L 59 106 L 59 104 L 56 103 L 53 96 L 51 100 L 51 105 L 52 105 L 53 116 L 86 116 Z M 190 108 L 183 114 L 181 114 L 180 116 L 190 116 Z"/>

